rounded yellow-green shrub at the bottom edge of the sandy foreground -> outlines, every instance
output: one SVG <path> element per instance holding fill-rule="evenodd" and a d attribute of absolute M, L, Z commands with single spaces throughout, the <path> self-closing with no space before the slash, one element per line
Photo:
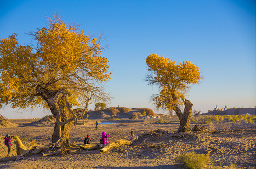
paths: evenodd
<path fill-rule="evenodd" d="M 211 159 L 209 155 L 190 152 L 176 157 L 176 162 L 187 169 L 205 169 L 211 164 Z"/>

